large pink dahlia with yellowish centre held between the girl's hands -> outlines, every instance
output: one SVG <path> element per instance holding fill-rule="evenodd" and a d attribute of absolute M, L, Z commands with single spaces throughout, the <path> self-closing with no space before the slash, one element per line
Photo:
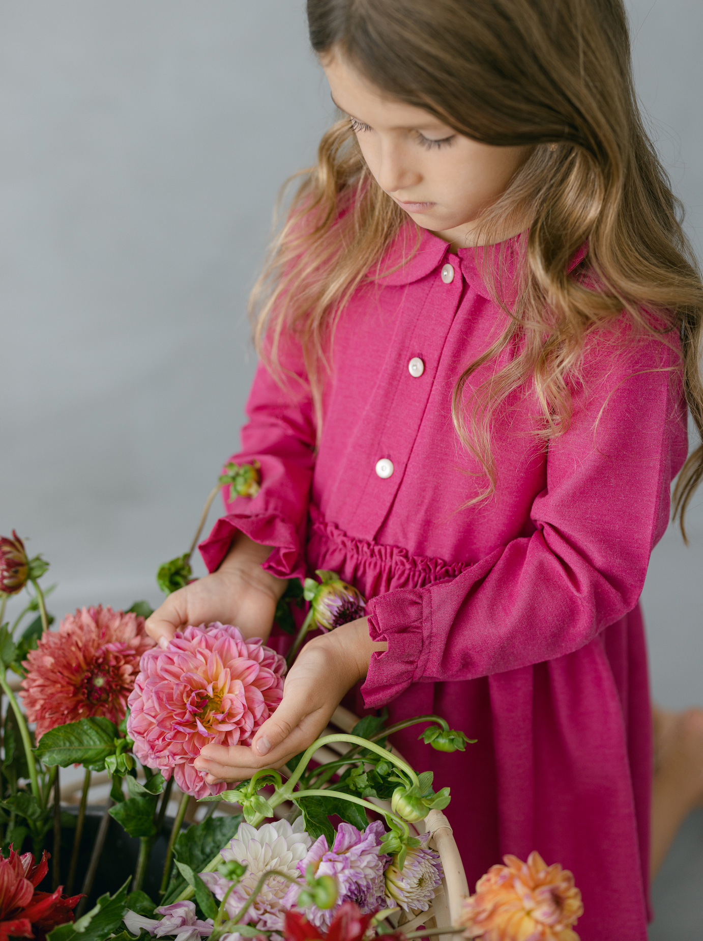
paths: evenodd
<path fill-rule="evenodd" d="M 283 657 L 237 628 L 215 622 L 177 631 L 148 650 L 129 698 L 134 754 L 194 797 L 219 794 L 193 766 L 207 744 L 248 745 L 283 698 Z"/>

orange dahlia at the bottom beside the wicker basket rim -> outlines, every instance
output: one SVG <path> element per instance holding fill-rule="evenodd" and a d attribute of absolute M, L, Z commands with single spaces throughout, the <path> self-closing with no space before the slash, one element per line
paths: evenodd
<path fill-rule="evenodd" d="M 573 876 L 559 865 L 547 866 L 539 853 L 523 863 L 504 856 L 476 883 L 476 895 L 464 902 L 465 937 L 483 941 L 578 941 L 571 926 L 584 914 Z"/>

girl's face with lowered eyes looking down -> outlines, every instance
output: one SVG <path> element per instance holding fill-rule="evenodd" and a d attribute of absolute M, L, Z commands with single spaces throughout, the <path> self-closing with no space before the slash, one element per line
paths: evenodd
<path fill-rule="evenodd" d="M 505 192 L 529 149 L 457 134 L 429 111 L 388 98 L 334 51 L 322 67 L 379 186 L 453 248 L 475 245 L 478 216 Z M 522 229 L 513 226 L 500 238 Z"/>

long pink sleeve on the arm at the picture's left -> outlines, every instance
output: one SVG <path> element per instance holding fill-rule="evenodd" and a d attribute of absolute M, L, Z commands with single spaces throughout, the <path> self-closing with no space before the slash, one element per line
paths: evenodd
<path fill-rule="evenodd" d="M 292 343 L 282 357 L 283 385 L 259 363 L 246 406 L 249 422 L 242 428 L 242 450 L 230 460 L 258 460 L 261 488 L 256 497 L 229 501 L 227 515 L 218 519 L 200 544 L 209 571 L 227 555 L 238 531 L 255 542 L 273 546 L 263 567 L 281 579 L 305 578 L 305 527 L 316 439 L 313 409 L 302 357 Z"/>

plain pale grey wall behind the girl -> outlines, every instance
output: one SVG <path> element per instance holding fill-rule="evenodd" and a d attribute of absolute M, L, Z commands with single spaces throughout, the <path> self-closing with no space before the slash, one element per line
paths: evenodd
<path fill-rule="evenodd" d="M 629 7 L 699 247 L 703 7 Z M 276 191 L 331 117 L 301 0 L 0 0 L 0 532 L 51 561 L 55 614 L 158 602 L 237 446 Z M 702 505 L 644 594 L 669 707 L 703 701 Z"/>

